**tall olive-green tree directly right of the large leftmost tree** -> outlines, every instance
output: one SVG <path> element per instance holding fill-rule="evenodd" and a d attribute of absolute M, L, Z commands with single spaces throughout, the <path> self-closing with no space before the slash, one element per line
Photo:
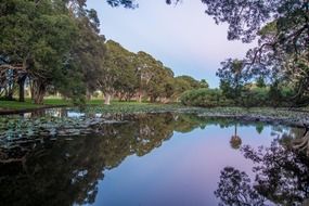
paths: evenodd
<path fill-rule="evenodd" d="M 78 27 L 78 34 L 77 41 L 70 52 L 70 64 L 75 67 L 75 72 L 79 70 L 81 73 L 80 81 L 83 82 L 86 88 L 87 100 L 90 100 L 91 93 L 98 88 L 98 74 L 104 63 L 103 56 L 106 53 L 105 37 L 100 35 L 100 21 L 95 10 L 87 10 L 83 4 L 73 8 L 75 9 L 72 13 L 77 13 L 74 20 Z M 69 87 L 64 89 L 67 90 L 67 88 Z M 82 94 L 85 92 L 79 93 L 79 95 Z"/>

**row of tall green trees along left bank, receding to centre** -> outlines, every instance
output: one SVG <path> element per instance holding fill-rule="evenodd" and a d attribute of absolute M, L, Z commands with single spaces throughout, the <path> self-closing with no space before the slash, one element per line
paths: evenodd
<path fill-rule="evenodd" d="M 134 8 L 125 1 L 112 7 Z M 25 86 L 33 102 L 48 93 L 82 104 L 95 91 L 105 104 L 120 100 L 176 100 L 183 91 L 208 87 L 172 70 L 146 52 L 133 53 L 100 33 L 96 11 L 86 0 L 4 0 L 0 3 L 0 96 L 13 100 Z"/>

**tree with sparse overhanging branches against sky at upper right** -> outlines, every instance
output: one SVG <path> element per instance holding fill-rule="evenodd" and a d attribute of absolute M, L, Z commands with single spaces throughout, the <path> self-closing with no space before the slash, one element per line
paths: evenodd
<path fill-rule="evenodd" d="M 293 82 L 297 103 L 308 92 L 309 5 L 304 0 L 211 1 L 202 0 L 216 23 L 229 24 L 228 39 L 259 46 L 244 60 L 252 74 Z"/>

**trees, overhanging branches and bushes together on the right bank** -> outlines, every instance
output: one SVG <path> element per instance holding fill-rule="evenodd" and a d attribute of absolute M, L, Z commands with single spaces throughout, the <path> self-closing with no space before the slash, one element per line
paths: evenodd
<path fill-rule="evenodd" d="M 309 104 L 309 3 L 307 0 L 201 0 L 228 39 L 257 42 L 242 60 L 228 59 L 217 72 L 220 90 L 189 91 L 202 105 L 306 106 Z M 134 0 L 117 1 L 136 8 Z M 180 0 L 166 0 L 177 4 Z M 218 100 L 219 96 L 219 100 Z M 195 104 L 196 105 L 196 104 Z M 218 105 L 218 104 L 217 104 Z"/>

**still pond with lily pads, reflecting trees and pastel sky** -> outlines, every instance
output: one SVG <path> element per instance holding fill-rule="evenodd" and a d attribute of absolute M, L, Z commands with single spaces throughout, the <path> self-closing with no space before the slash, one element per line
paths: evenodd
<path fill-rule="evenodd" d="M 1 205 L 301 205 L 302 134 L 198 114 L 5 116 Z"/>

